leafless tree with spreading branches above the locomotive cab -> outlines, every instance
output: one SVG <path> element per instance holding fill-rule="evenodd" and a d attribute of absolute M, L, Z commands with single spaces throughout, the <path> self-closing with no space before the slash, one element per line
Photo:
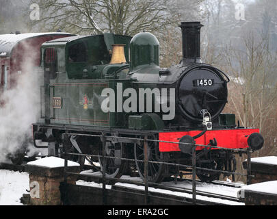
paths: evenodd
<path fill-rule="evenodd" d="M 139 31 L 161 31 L 178 21 L 167 0 L 50 0 L 39 1 L 47 29 L 74 33 L 134 35 Z"/>

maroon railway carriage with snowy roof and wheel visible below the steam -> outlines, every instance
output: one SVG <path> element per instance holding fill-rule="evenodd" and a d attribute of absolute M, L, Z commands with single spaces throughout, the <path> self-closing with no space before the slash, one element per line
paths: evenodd
<path fill-rule="evenodd" d="M 9 99 L 3 94 L 7 90 L 16 88 L 16 83 L 20 76 L 36 74 L 40 70 L 40 47 L 44 42 L 74 36 L 72 34 L 53 33 L 33 33 L 33 34 L 2 34 L 0 35 L 0 107 L 7 105 Z M 29 76 L 28 76 L 29 77 Z M 21 78 L 22 79 L 22 78 Z M 3 126 L 3 124 L 2 124 Z M 29 138 L 22 137 L 22 142 L 18 142 L 20 149 L 16 151 L 4 152 L 14 164 L 21 164 L 25 155 Z"/>

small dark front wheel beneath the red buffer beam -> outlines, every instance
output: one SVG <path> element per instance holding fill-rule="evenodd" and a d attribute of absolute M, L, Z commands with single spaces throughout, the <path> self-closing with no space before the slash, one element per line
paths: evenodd
<path fill-rule="evenodd" d="M 223 170 L 223 164 L 221 162 L 217 163 L 215 161 L 213 161 L 211 164 L 202 164 L 200 167 L 211 170 Z M 212 181 L 219 180 L 221 173 L 209 170 L 196 170 L 196 175 L 201 181 L 211 183 Z"/>

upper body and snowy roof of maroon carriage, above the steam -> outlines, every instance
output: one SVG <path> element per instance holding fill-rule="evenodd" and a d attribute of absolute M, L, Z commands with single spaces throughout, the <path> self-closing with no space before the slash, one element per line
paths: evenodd
<path fill-rule="evenodd" d="M 73 36 L 66 33 L 33 33 L 0 35 L 0 92 L 12 88 L 16 75 L 22 74 L 28 66 L 40 66 L 42 43 L 57 38 Z"/>

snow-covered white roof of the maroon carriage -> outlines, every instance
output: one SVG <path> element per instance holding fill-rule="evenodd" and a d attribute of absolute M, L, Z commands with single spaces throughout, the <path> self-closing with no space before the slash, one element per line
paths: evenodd
<path fill-rule="evenodd" d="M 68 35 L 68 33 L 60 32 L 49 32 L 49 33 L 29 33 L 29 34 L 0 34 L 0 54 L 6 55 L 10 54 L 12 48 L 21 40 L 26 40 L 27 38 L 33 38 L 36 36 L 47 36 L 47 35 Z"/>

